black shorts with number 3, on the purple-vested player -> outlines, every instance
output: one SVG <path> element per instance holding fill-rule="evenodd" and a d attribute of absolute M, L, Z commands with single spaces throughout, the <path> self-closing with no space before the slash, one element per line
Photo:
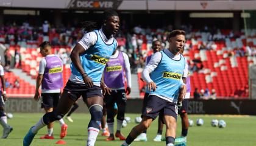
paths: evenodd
<path fill-rule="evenodd" d="M 126 91 L 124 89 L 112 90 L 111 95 L 105 94 L 104 102 L 107 108 L 113 108 L 117 105 L 126 106 Z"/>

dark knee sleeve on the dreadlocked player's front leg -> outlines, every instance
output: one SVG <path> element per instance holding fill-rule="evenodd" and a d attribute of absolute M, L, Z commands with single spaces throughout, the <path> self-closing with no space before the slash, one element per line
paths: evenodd
<path fill-rule="evenodd" d="M 89 108 L 90 114 L 91 114 L 91 121 L 88 125 L 88 127 L 94 127 L 94 128 L 98 128 L 101 125 L 101 119 L 103 116 L 102 113 L 102 106 L 101 105 L 92 105 Z"/>

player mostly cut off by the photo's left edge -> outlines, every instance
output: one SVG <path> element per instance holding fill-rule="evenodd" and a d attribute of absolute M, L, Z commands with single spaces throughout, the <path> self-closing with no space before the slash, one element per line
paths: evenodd
<path fill-rule="evenodd" d="M 1 60 L 0 60 L 1 61 Z M 4 78 L 4 68 L 2 68 L 0 62 L 0 78 L 2 87 L 0 84 L 0 124 L 4 130 L 2 131 L 2 139 L 8 137 L 10 132 L 12 132 L 13 128 L 7 123 L 7 117 L 4 113 L 4 102 L 7 100 L 6 91 L 5 91 L 5 78 Z"/>

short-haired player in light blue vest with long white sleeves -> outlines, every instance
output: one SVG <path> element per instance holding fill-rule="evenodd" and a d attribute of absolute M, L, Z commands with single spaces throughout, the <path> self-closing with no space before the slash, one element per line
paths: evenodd
<path fill-rule="evenodd" d="M 142 120 L 133 127 L 122 146 L 130 145 L 133 140 L 150 125 L 158 114 L 163 114 L 166 125 L 166 146 L 173 146 L 176 137 L 177 103 L 186 93 L 182 82 L 185 71 L 185 58 L 179 52 L 185 44 L 185 32 L 173 30 L 169 36 L 169 49 L 154 54 L 143 70 L 149 97 L 143 105 Z M 150 74 L 150 75 L 149 75 Z"/>

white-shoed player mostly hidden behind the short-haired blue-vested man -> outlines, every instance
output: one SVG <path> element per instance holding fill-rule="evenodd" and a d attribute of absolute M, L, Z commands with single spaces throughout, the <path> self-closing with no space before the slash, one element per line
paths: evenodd
<path fill-rule="evenodd" d="M 152 49 L 154 54 L 156 52 L 159 52 L 160 50 L 162 50 L 162 42 L 159 40 L 155 40 L 152 42 Z M 153 55 L 154 55 L 153 54 Z M 147 65 L 149 63 L 149 61 L 151 60 L 152 55 L 149 55 L 146 58 L 145 64 Z M 145 95 L 144 95 L 144 99 L 143 99 L 143 104 L 144 102 L 146 102 L 146 98 L 149 96 L 149 90 L 146 89 Z M 161 141 L 162 139 L 162 131 L 163 131 L 163 123 L 162 123 L 162 119 L 161 117 L 158 117 L 158 129 L 157 129 L 157 136 L 154 138 L 154 141 L 158 142 Z M 134 139 L 134 141 L 148 141 L 147 138 L 147 130 L 143 131 L 143 133 L 141 133 L 136 139 Z"/>

